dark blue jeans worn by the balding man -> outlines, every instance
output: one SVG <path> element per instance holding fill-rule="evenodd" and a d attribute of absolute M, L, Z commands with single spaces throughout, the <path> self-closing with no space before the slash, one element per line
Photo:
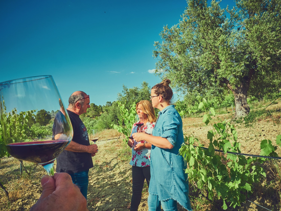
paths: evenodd
<path fill-rule="evenodd" d="M 73 184 L 76 184 L 79 187 L 82 195 L 86 198 L 86 200 L 87 200 L 87 191 L 88 191 L 88 184 L 89 184 L 88 173 L 89 170 L 84 172 L 69 174 L 72 178 Z"/>

